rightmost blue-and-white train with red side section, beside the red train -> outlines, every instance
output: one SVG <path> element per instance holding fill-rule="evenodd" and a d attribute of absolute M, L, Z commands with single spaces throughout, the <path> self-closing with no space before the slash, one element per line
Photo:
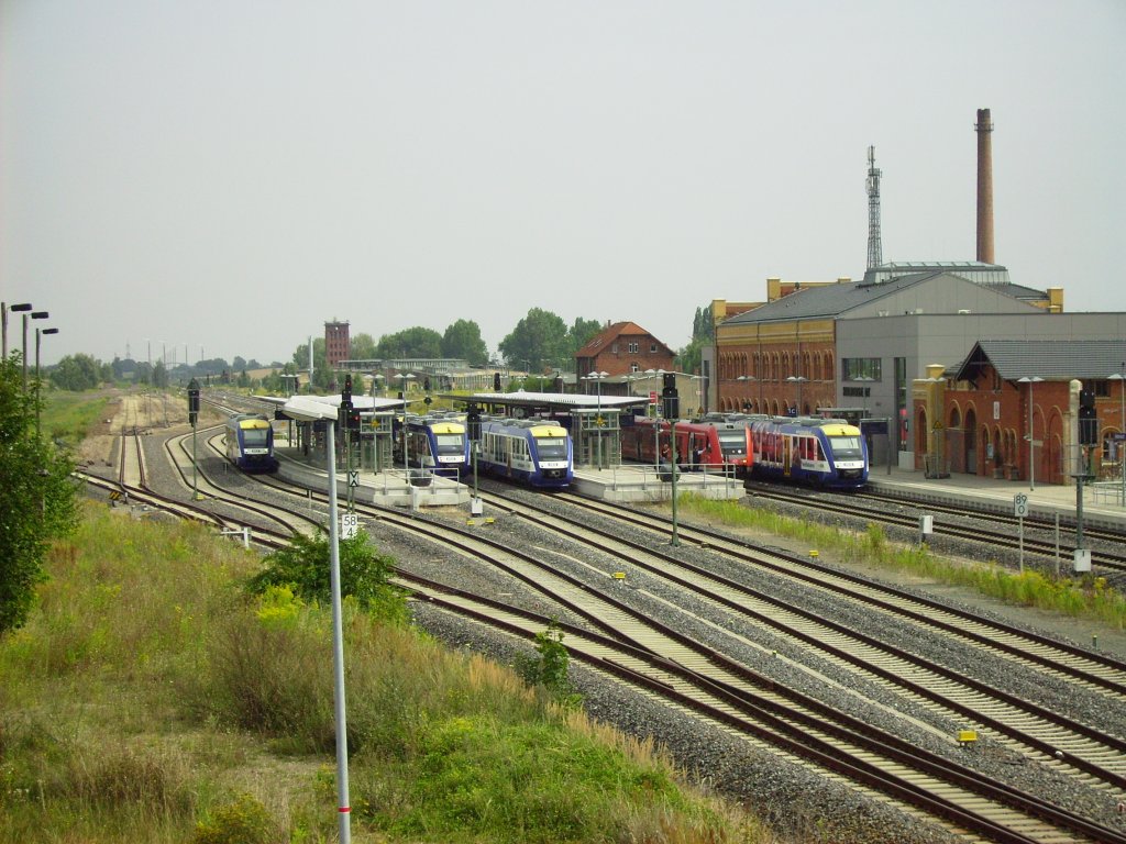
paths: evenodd
<path fill-rule="evenodd" d="M 868 483 L 868 447 L 841 419 L 772 416 L 748 422 L 753 477 L 786 478 L 833 490 Z"/>

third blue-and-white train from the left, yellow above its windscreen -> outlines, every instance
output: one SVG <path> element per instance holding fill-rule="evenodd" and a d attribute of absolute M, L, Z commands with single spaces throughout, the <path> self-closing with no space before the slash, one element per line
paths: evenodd
<path fill-rule="evenodd" d="M 562 490 L 574 477 L 571 434 L 536 419 L 482 419 L 477 470 L 539 490 Z"/>

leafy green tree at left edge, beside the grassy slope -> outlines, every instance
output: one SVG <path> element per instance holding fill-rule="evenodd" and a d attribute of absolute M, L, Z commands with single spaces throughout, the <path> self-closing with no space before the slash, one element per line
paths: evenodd
<path fill-rule="evenodd" d="M 35 436 L 36 410 L 19 354 L 0 361 L 0 632 L 27 620 L 50 541 L 78 523 L 74 464 Z"/>

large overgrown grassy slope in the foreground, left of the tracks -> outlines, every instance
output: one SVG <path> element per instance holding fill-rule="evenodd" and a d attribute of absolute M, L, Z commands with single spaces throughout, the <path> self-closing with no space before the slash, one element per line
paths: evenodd
<path fill-rule="evenodd" d="M 88 504 L 0 639 L 0 843 L 336 838 L 328 608 L 206 529 Z M 766 842 L 659 748 L 346 602 L 357 842 Z"/>

